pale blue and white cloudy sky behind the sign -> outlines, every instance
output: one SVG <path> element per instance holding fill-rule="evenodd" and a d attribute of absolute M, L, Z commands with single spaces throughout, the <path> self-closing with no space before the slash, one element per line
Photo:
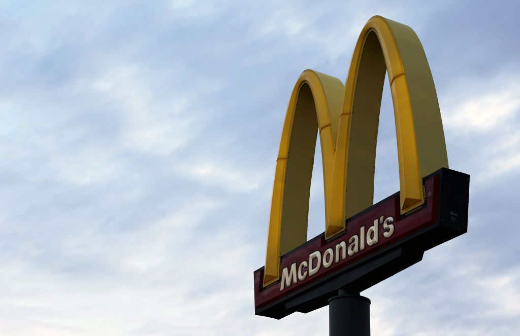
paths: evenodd
<path fill-rule="evenodd" d="M 436 83 L 469 232 L 363 292 L 372 334 L 520 334 L 517 2 L 0 3 L 0 333 L 328 334 L 328 308 L 254 315 L 289 96 L 346 79 L 373 15 Z M 388 83 L 375 198 L 398 191 Z M 317 158 L 320 153 L 317 152 Z M 321 165 L 309 236 L 324 229 Z"/>

